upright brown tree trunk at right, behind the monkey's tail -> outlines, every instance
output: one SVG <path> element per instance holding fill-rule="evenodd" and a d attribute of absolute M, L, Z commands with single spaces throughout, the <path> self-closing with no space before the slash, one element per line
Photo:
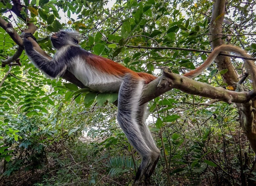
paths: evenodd
<path fill-rule="evenodd" d="M 226 0 L 215 0 L 213 4 L 212 19 L 209 28 L 209 39 L 212 50 L 224 43 L 224 40 L 222 40 L 221 37 L 223 37 L 222 25 L 225 15 L 225 4 Z M 229 86 L 235 86 L 235 82 L 238 81 L 238 73 L 231 64 L 230 57 L 218 56 L 215 62 L 219 70 L 228 69 L 227 73 L 222 74 L 223 81 Z M 244 91 L 242 85 L 240 85 L 239 91 Z M 253 102 L 249 100 L 248 102 L 242 104 L 236 104 L 236 106 L 239 111 L 242 130 L 246 134 L 253 151 L 256 152 L 256 130 L 254 125 L 255 108 L 252 107 L 254 106 L 252 103 Z M 256 169 L 254 168 L 254 170 Z M 253 183 L 253 185 L 254 184 L 255 183 Z"/>

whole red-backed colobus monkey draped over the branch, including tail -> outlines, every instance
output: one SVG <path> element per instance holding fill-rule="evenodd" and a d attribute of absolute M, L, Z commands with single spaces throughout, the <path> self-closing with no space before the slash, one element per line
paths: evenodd
<path fill-rule="evenodd" d="M 31 37 L 28 35 L 27 37 Z M 98 92 L 118 92 L 117 121 L 124 131 L 129 143 L 139 152 L 142 161 L 136 173 L 134 185 L 138 185 L 145 175 L 145 184 L 150 185 L 150 176 L 154 172 L 160 156 L 151 132 L 146 124 L 146 106 L 140 105 L 141 94 L 145 84 L 150 83 L 155 76 L 143 72 L 134 72 L 125 66 L 113 62 L 82 49 L 78 44 L 80 35 L 76 31 L 66 30 L 50 37 L 52 45 L 57 49 L 52 60 L 34 50 L 32 43 L 24 38 L 26 54 L 34 65 L 47 76 L 55 78 L 69 70 L 85 86 Z M 196 70 L 185 76 L 193 78 L 203 72 L 213 63 L 221 51 L 234 52 L 249 56 L 239 47 L 221 45 L 213 50 L 208 59 Z M 245 60 L 251 71 L 256 67 L 250 60 Z"/>

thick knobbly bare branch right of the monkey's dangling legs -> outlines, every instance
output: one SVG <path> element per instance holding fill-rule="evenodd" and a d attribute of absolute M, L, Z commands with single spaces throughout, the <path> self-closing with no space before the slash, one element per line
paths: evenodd
<path fill-rule="evenodd" d="M 142 104 L 156 98 L 157 96 L 172 90 L 179 89 L 182 92 L 200 95 L 211 99 L 219 99 L 226 103 L 246 103 L 256 96 L 255 91 L 235 92 L 222 87 L 213 87 L 206 83 L 189 79 L 185 76 L 172 73 L 169 69 L 163 70 L 163 75 L 150 82 L 142 95 Z"/>

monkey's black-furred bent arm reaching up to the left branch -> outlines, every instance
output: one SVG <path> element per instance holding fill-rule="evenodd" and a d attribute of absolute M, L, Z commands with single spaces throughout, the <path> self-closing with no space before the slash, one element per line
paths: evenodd
<path fill-rule="evenodd" d="M 66 60 L 56 60 L 53 58 L 50 61 L 42 54 L 35 51 L 32 43 L 28 39 L 24 38 L 23 45 L 29 59 L 48 76 L 55 78 L 67 69 Z"/>

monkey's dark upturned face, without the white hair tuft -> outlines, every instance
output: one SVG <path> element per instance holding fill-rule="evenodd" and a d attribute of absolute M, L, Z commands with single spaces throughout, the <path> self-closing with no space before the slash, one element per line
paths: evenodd
<path fill-rule="evenodd" d="M 77 45 L 78 40 L 70 36 L 68 32 L 60 31 L 57 33 L 54 33 L 50 40 L 52 42 L 52 45 L 56 49 L 60 49 L 61 47 L 65 45 Z"/>

